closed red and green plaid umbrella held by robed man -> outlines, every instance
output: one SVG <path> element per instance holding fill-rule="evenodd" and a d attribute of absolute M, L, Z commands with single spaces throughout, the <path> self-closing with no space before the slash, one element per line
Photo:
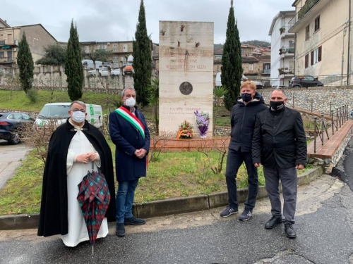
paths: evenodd
<path fill-rule="evenodd" d="M 88 237 L 90 237 L 92 256 L 95 239 L 97 239 L 100 225 L 102 225 L 110 202 L 110 193 L 104 175 L 93 169 L 94 163 L 92 162 L 92 172 L 88 171 L 82 182 L 78 184 L 77 196 L 87 226 Z"/>

